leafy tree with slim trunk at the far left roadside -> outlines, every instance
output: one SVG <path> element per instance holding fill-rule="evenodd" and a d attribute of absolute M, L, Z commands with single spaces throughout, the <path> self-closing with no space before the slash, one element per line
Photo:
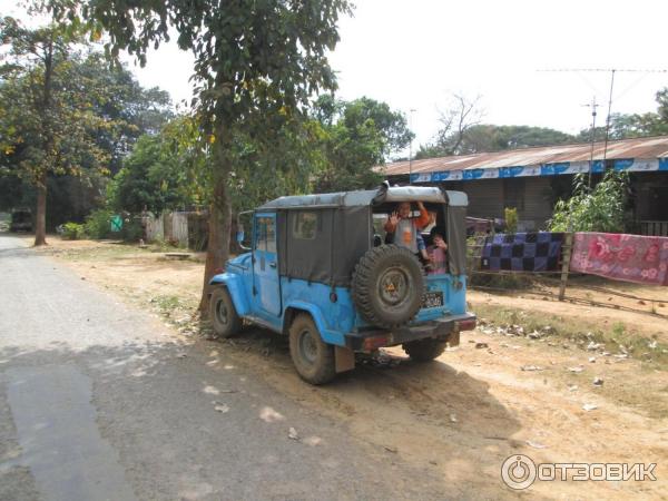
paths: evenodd
<path fill-rule="evenodd" d="M 46 244 L 49 174 L 106 168 L 107 157 L 91 131 L 109 124 L 90 110 L 88 97 L 73 85 L 81 75 L 72 57 L 82 41 L 56 24 L 27 29 L 10 17 L 0 21 L 0 43 L 8 46 L 0 84 L 0 165 L 4 174 L 36 187 L 35 245 Z"/>

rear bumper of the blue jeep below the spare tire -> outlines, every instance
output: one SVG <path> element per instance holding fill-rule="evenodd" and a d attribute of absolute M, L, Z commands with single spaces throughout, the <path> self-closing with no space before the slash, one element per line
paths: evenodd
<path fill-rule="evenodd" d="M 436 338 L 448 341 L 450 346 L 459 345 L 460 331 L 475 328 L 475 315 L 464 313 L 451 315 L 420 325 L 406 325 L 392 331 L 367 331 L 345 335 L 345 344 L 355 352 L 371 352 L 383 346 L 395 346 L 411 341 Z"/>

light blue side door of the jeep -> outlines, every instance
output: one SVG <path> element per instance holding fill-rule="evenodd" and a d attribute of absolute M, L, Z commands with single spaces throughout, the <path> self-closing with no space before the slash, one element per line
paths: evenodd
<path fill-rule="evenodd" d="M 256 214 L 254 227 L 253 285 L 258 298 L 259 313 L 279 316 L 282 305 L 276 253 L 276 214 Z"/>

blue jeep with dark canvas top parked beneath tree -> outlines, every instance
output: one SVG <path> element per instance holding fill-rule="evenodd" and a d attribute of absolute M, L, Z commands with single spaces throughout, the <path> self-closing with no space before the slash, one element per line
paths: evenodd
<path fill-rule="evenodd" d="M 379 223 L 401 202 L 435 214 L 449 273 L 428 275 L 410 250 L 385 244 Z M 465 301 L 466 205 L 460 191 L 386 184 L 272 200 L 253 212 L 248 252 L 210 281 L 214 330 L 228 337 L 247 321 L 288 335 L 296 371 L 312 384 L 382 346 L 431 361 L 475 327 Z"/>

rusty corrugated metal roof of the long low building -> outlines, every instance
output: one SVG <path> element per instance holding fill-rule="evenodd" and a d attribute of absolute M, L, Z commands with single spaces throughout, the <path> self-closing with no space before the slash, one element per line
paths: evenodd
<path fill-rule="evenodd" d="M 602 160 L 603 148 L 605 145 L 602 141 L 595 144 L 595 160 Z M 591 144 L 540 146 L 497 153 L 413 160 L 411 171 L 420 174 L 499 167 L 527 167 L 544 164 L 588 161 L 590 158 Z M 609 160 L 668 158 L 668 136 L 609 141 L 606 158 Z M 395 161 L 377 167 L 377 170 L 385 176 L 406 175 L 409 174 L 409 161 Z"/>

